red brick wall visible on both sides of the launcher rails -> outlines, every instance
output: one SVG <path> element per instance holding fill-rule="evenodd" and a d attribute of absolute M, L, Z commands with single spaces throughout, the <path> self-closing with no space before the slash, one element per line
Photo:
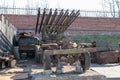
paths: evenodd
<path fill-rule="evenodd" d="M 5 15 L 9 22 L 19 30 L 32 30 L 35 28 L 35 15 Z M 71 34 L 120 34 L 120 18 L 78 17 L 69 27 Z"/>

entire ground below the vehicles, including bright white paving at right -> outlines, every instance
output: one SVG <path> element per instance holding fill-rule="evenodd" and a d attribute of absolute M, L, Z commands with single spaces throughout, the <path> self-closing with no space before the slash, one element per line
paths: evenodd
<path fill-rule="evenodd" d="M 56 70 L 55 67 L 52 68 Z M 0 80 L 15 80 L 19 78 L 28 78 L 32 75 L 33 80 L 120 80 L 120 64 L 91 64 L 91 69 L 86 73 L 74 73 L 74 66 L 64 66 L 64 74 L 44 75 L 43 67 L 36 64 L 34 60 L 19 61 L 17 67 L 6 68 L 0 71 Z M 72 72 L 73 71 L 73 72 Z M 106 77 L 105 77 L 106 76 Z M 25 79 L 29 80 L 29 79 Z"/>

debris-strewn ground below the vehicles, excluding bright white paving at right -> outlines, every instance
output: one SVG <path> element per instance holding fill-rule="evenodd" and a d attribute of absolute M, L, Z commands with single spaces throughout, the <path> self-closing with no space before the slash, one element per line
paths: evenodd
<path fill-rule="evenodd" d="M 55 67 L 52 68 L 54 72 Z M 63 74 L 43 74 L 43 67 L 36 64 L 34 60 L 19 61 L 17 67 L 6 68 L 0 71 L 0 80 L 106 80 L 106 77 L 96 71 L 88 70 L 86 73 L 76 73 L 74 66 L 64 66 Z M 29 79 L 27 79 L 29 77 Z"/>

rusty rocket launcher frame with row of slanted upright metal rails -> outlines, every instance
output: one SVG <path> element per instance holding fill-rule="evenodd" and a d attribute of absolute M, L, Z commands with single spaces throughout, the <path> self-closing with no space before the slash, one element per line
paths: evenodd
<path fill-rule="evenodd" d="M 41 14 L 42 12 L 42 14 Z M 43 40 L 58 40 L 60 34 L 63 34 L 73 21 L 79 16 L 80 11 L 58 10 L 52 11 L 38 9 L 37 23 L 35 33 L 42 34 Z"/>

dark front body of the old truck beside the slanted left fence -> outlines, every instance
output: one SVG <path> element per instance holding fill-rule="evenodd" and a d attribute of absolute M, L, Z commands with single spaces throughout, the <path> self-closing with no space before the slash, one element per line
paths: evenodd
<path fill-rule="evenodd" d="M 39 39 L 30 33 L 20 33 L 18 35 L 17 47 L 18 51 L 15 50 L 15 53 L 19 55 L 19 59 L 34 58 L 39 50 Z"/>

